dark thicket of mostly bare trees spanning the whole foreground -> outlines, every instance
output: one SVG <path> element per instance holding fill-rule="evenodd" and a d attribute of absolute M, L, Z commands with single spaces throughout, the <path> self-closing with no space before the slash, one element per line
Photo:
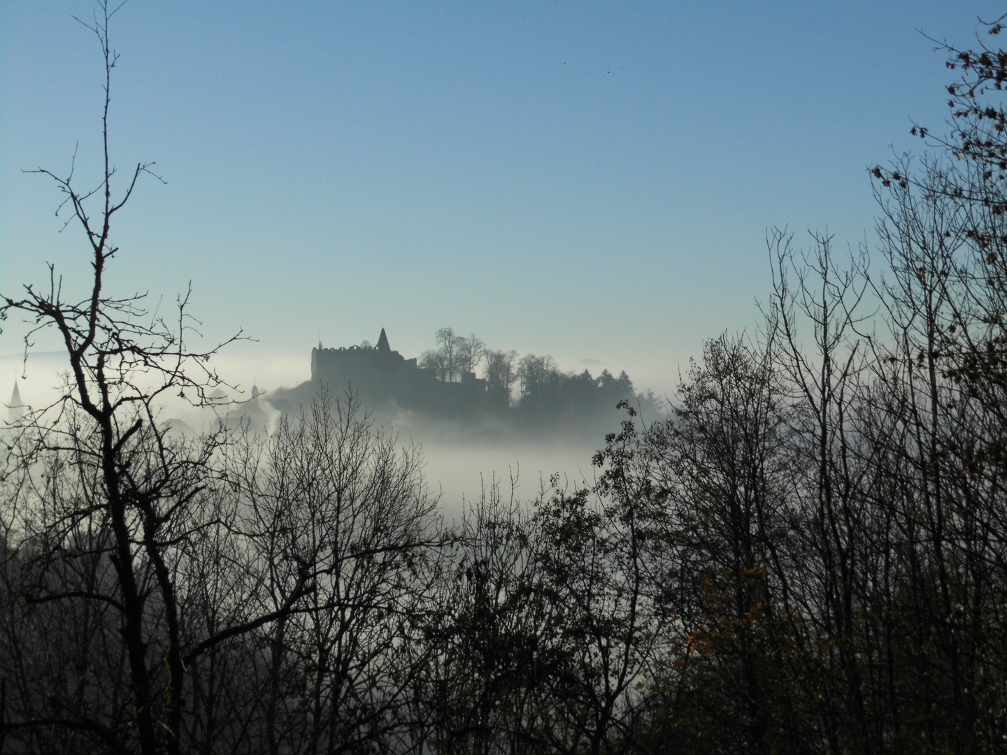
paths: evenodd
<path fill-rule="evenodd" d="M 1004 750 L 1007 53 L 951 52 L 955 131 L 873 171 L 883 271 L 771 233 L 757 337 L 453 527 L 352 405 L 170 441 L 132 375 L 215 378 L 103 294 L 106 193 L 93 296 L 0 310 L 71 379 L 6 436 L 0 751 Z"/>

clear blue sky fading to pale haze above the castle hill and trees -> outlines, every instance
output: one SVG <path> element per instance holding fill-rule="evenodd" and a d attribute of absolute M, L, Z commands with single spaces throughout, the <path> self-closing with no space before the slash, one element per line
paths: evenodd
<path fill-rule="evenodd" d="M 95 175 L 101 58 L 71 18 L 90 8 L 0 3 L 3 293 L 46 261 L 87 274 L 55 190 L 21 170 L 65 170 L 80 141 Z M 449 325 L 667 390 L 703 338 L 757 321 L 767 226 L 870 242 L 867 166 L 947 117 L 919 30 L 968 45 L 1001 11 L 130 0 L 114 160 L 167 183 L 122 215 L 112 283 L 156 302 L 191 280 L 208 335 L 258 339 L 233 368 L 274 382 L 307 375 L 319 331 L 384 326 L 409 356 Z"/>

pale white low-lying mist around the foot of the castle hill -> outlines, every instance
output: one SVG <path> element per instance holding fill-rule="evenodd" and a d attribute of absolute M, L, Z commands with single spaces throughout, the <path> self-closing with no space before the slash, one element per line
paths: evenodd
<path fill-rule="evenodd" d="M 27 361 L 23 354 L 0 356 L 0 374 L 8 375 L 10 381 L 2 388 L 9 392 L 16 381 L 25 405 L 35 409 L 47 406 L 60 395 L 57 388 L 66 369 L 65 359 L 65 354 L 57 351 L 31 352 Z M 225 362 L 222 369 L 225 378 L 228 372 L 253 371 L 244 360 L 222 361 Z M 300 365 L 291 361 L 274 359 L 272 362 L 282 362 L 286 368 L 273 364 L 260 371 L 267 372 L 267 379 L 296 380 L 305 371 L 306 360 Z M 596 368 L 595 364 L 590 366 Z M 160 418 L 170 426 L 172 435 L 196 436 L 210 432 L 222 422 L 234 432 L 241 432 L 243 424 L 249 432 L 275 432 L 284 413 L 270 399 L 273 395 L 289 397 L 291 391 L 222 386 L 211 392 L 217 395 L 215 405 L 203 407 L 194 407 L 178 396 L 169 396 L 161 402 Z M 321 399 L 310 384 L 300 395 L 308 402 Z M 6 393 L 0 400 L 6 404 L 9 396 Z M 341 395 L 328 400 L 345 403 L 347 397 Z M 286 408 L 291 421 L 297 421 L 302 408 L 308 409 L 303 404 Z M 393 434 L 401 447 L 415 446 L 421 450 L 426 483 L 439 498 L 441 510 L 448 518 L 460 515 L 464 503 L 477 500 L 494 480 L 507 495 L 513 494 L 522 501 L 534 500 L 552 475 L 558 475 L 561 483 L 571 487 L 589 484 L 595 473 L 591 463 L 593 455 L 603 447 L 605 433 L 615 432 L 624 416 L 613 405 L 590 422 L 560 422 L 528 432 L 527 428 L 517 428 L 494 417 L 482 417 L 478 421 L 437 418 L 394 406 L 376 408 L 366 404 L 361 410 L 369 414 L 376 428 Z M 653 412 L 651 415 L 644 413 L 644 420 L 651 421 L 657 416 Z"/>

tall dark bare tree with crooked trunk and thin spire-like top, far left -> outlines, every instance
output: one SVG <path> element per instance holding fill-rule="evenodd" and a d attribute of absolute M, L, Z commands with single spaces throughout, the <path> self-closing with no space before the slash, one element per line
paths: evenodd
<path fill-rule="evenodd" d="M 144 295 L 120 298 L 107 290 L 108 267 L 122 254 L 113 240 L 113 220 L 139 180 L 154 176 L 152 163 L 138 163 L 122 190 L 115 190 L 109 110 L 118 54 L 109 23 L 121 8 L 99 0 L 93 20 L 82 21 L 96 36 L 104 61 L 99 180 L 79 188 L 73 162 L 65 174 L 34 171 L 54 182 L 63 197 L 59 211 L 68 213 L 66 224 L 76 224 L 84 236 L 93 272 L 89 290 L 69 298 L 71 286 L 49 266 L 47 285 L 3 297 L 0 318 L 19 316 L 30 323 L 26 352 L 38 331 L 54 330 L 68 372 L 53 405 L 17 423 L 7 455 L 4 566 L 26 580 L 10 599 L 58 605 L 63 616 L 90 611 L 95 620 L 101 616 L 118 625 L 117 632 L 90 635 L 88 642 L 107 645 L 83 645 L 78 657 L 119 657 L 124 682 L 116 682 L 107 696 L 81 688 L 74 692 L 76 705 L 42 707 L 14 700 L 12 686 L 3 724 L 8 736 L 30 739 L 61 730 L 111 752 L 174 755 L 193 662 L 221 642 L 284 615 L 313 588 L 310 569 L 303 566 L 287 601 L 274 610 L 243 616 L 203 636 L 186 633 L 179 564 L 192 539 L 212 524 L 202 502 L 214 484 L 212 460 L 223 436 L 195 445 L 173 443 L 159 427 L 157 412 L 169 394 L 203 403 L 207 391 L 222 384 L 210 359 L 223 344 L 189 346 L 197 323 L 187 312 L 188 293 L 179 297 L 169 322 L 145 309 Z M 67 569 L 73 579 L 60 576 Z M 68 629 L 84 631 L 89 621 L 82 618 Z M 51 632 L 35 641 L 48 639 L 60 641 Z M 33 682 L 26 658 L 8 660 L 21 663 L 21 678 Z M 8 666 L 4 674 L 13 671 Z"/>

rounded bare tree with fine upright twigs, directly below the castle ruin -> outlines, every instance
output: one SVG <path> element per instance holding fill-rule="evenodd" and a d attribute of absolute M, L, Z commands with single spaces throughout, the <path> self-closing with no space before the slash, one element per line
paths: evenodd
<path fill-rule="evenodd" d="M 258 734 L 268 752 L 357 752 L 404 734 L 423 666 L 442 532 L 414 448 L 323 399 L 269 437 L 246 436 L 229 495 L 255 549 L 264 628 Z M 312 591 L 283 613 L 312 565 Z M 208 670 L 201 666 L 198 673 Z M 241 746 L 236 742 L 232 746 Z"/>

